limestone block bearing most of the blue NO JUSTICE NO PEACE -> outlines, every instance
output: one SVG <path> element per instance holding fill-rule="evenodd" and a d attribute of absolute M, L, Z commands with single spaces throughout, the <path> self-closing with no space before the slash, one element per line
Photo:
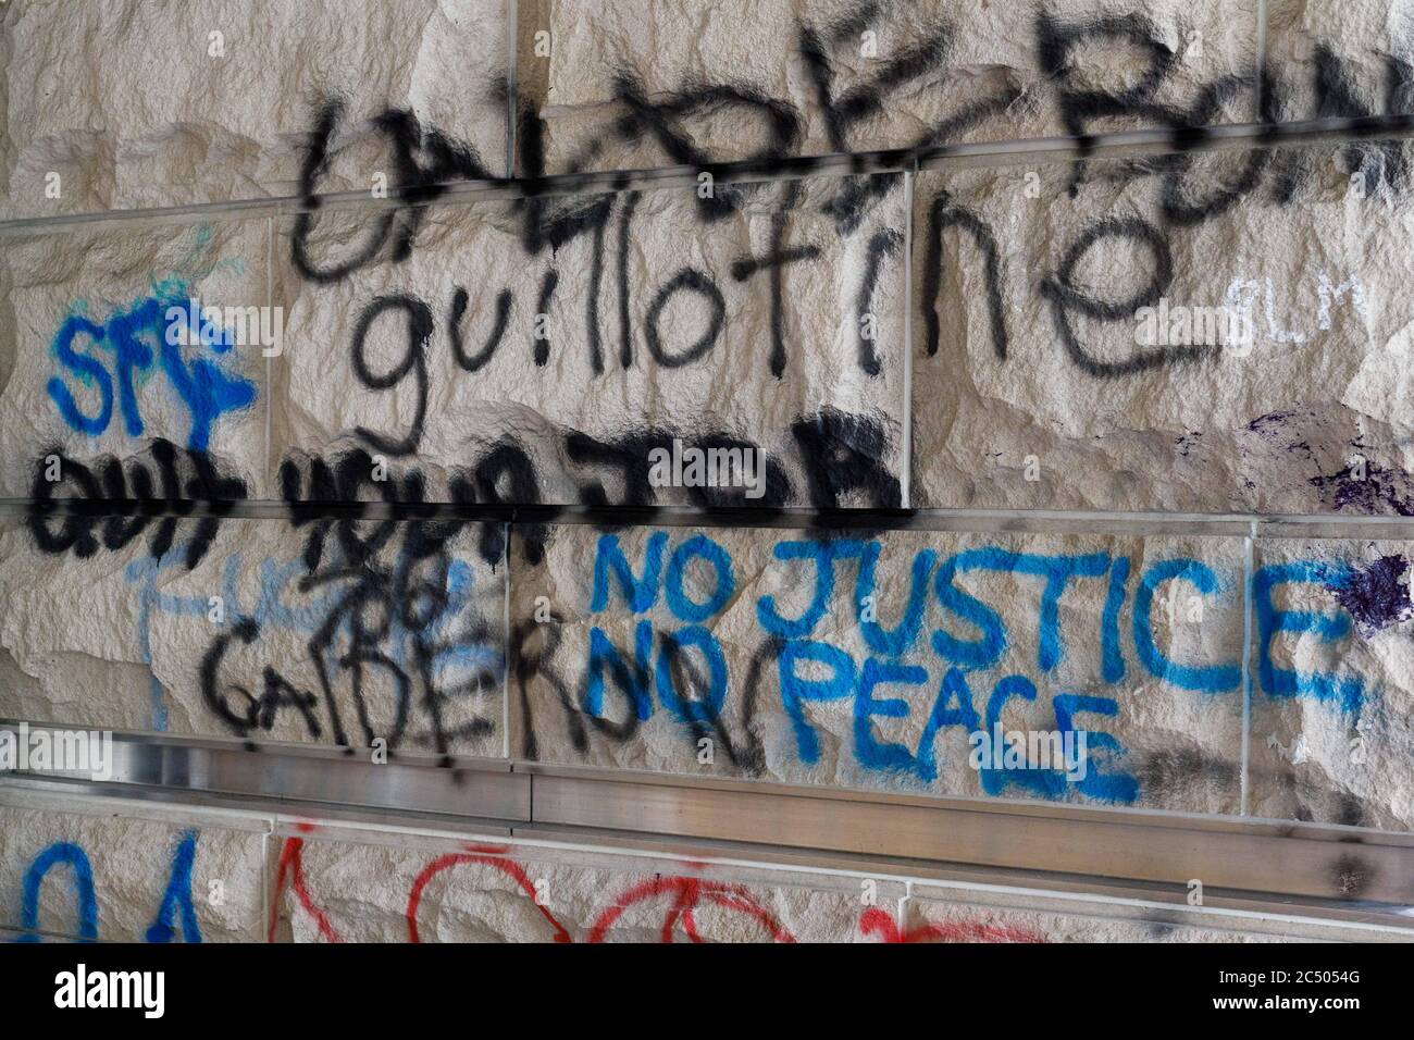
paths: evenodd
<path fill-rule="evenodd" d="M 526 545 L 513 754 L 1239 809 L 1237 539 L 556 528 L 537 567 Z M 974 758 L 974 733 L 1027 756 Z"/>

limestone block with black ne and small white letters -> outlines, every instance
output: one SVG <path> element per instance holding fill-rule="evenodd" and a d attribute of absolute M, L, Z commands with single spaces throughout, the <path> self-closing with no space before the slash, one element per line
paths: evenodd
<path fill-rule="evenodd" d="M 1406 161 L 921 175 L 913 504 L 1414 512 Z"/>

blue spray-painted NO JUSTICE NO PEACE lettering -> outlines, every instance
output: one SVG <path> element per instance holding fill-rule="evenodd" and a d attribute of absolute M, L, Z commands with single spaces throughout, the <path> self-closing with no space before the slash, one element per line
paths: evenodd
<path fill-rule="evenodd" d="M 608 624 L 590 628 L 577 707 L 601 732 L 624 737 L 662 707 L 700 737 L 713 726 L 721 732 L 723 713 L 732 698 L 758 696 L 755 679 L 748 678 L 748 689 L 742 691 L 728 675 L 717 627 L 711 624 L 721 618 L 737 594 L 731 555 L 706 535 L 684 533 L 682 542 L 676 542 L 677 538 L 653 532 L 636 553 L 626 553 L 617 535 L 602 535 L 598 541 L 590 614 L 612 617 L 614 611 L 628 611 L 635 616 L 632 647 L 618 645 Z M 902 589 L 899 601 L 880 604 L 881 555 L 880 542 L 848 538 L 783 541 L 772 549 L 772 559 L 788 570 L 788 583 L 793 579 L 790 601 L 795 606 L 783 606 L 781 593 L 764 593 L 752 604 L 754 617 L 765 637 L 764 661 L 775 666 L 779 710 L 789 726 L 789 750 L 803 765 L 822 764 L 826 730 L 812 716 L 826 710 L 836 719 L 830 739 L 843 744 L 839 747 L 841 758 L 847 757 L 867 773 L 887 773 L 928 785 L 939 778 L 943 733 L 956 730 L 966 737 L 977 730 L 990 732 L 1011 705 L 1011 710 L 1022 712 L 1027 720 L 1022 724 L 1044 723 L 1062 739 L 1083 734 L 1089 765 L 1076 777 L 1029 763 L 1021 768 L 994 764 L 978 768 L 983 794 L 998 795 L 1015 788 L 1034 798 L 1080 797 L 1133 804 L 1143 792 L 1138 777 L 1126 768 L 1128 750 L 1114 733 L 1104 730 L 1106 720 L 1123 720 L 1124 702 L 1104 696 L 1104 688 L 1130 678 L 1131 683 L 1135 679 L 1157 682 L 1171 691 L 1206 698 L 1241 696 L 1237 642 L 1241 582 L 1219 574 L 1202 560 L 1179 556 L 1134 562 L 1104 552 L 1028 553 L 995 546 L 943 555 L 923 548 L 912 553 L 905 582 L 895 586 Z M 696 584 L 686 577 L 690 565 L 696 567 Z M 854 570 L 848 596 L 839 587 L 847 580 L 846 565 Z M 969 574 L 1011 576 L 1018 584 L 1034 584 L 1038 591 L 1034 630 L 1010 631 L 1018 623 L 1004 621 L 1000 608 L 987 603 L 974 583 L 964 587 Z M 1365 695 L 1359 678 L 1297 675 L 1273 664 L 1273 642 L 1281 632 L 1315 632 L 1335 641 L 1350 631 L 1349 618 L 1342 614 L 1278 610 L 1271 590 L 1288 582 L 1348 589 L 1349 572 L 1331 565 L 1294 565 L 1258 573 L 1254 671 L 1260 674 L 1261 688 L 1273 698 L 1305 696 L 1353 710 Z M 1015 604 L 1018 593 L 1010 586 L 1004 589 Z M 1079 606 L 1082 593 L 1085 603 L 1092 606 Z M 991 599 L 998 594 L 1001 590 Z M 863 654 L 822 634 L 837 596 L 844 596 L 848 614 L 834 618 L 833 631 L 843 635 L 853 630 Z M 1189 604 L 1182 618 L 1174 616 L 1174 604 L 1179 600 Z M 1167 631 L 1157 616 L 1159 606 L 1169 610 Z M 1127 608 L 1124 627 L 1121 617 Z M 1226 625 L 1233 637 L 1225 642 L 1230 655 L 1226 659 L 1193 661 L 1175 649 L 1175 625 L 1203 623 L 1205 608 L 1215 611 L 1209 631 L 1223 631 Z M 655 610 L 669 618 L 666 627 L 662 620 L 646 617 Z M 1335 610 L 1340 610 L 1339 603 Z M 930 611 L 933 617 L 940 613 L 943 624 L 925 638 Z M 888 623 L 881 620 L 884 617 Z M 673 620 L 687 624 L 673 631 Z M 1073 649 L 1068 638 L 1077 648 L 1082 632 L 1086 642 L 1097 640 L 1097 647 L 1079 658 L 1080 665 L 1068 666 Z M 1035 654 L 1017 659 L 1017 648 L 1031 641 Z M 674 672 L 676 655 L 682 654 L 699 662 L 696 671 Z M 1082 666 L 1086 659 L 1094 659 L 1094 665 Z M 1022 674 L 1005 674 L 1007 664 L 1019 666 Z M 1063 666 L 1068 671 L 1062 671 Z M 1087 674 L 1089 668 L 1093 674 Z M 1137 668 L 1137 674 L 1131 668 Z M 986 710 L 978 710 L 981 703 L 974 699 L 971 676 L 988 671 L 1004 674 L 991 679 Z M 1038 676 L 1051 678 L 1051 692 L 1038 691 Z M 1077 685 L 1062 676 L 1072 676 Z M 611 703 L 611 691 L 622 700 Z M 921 698 L 923 705 L 919 705 Z M 1230 703 L 1236 712 L 1236 702 Z M 843 740 L 837 736 L 841 707 L 848 719 Z M 740 710 L 755 710 L 755 702 Z M 619 722 L 612 722 L 615 717 Z M 919 733 L 916 746 L 885 736 L 889 729 L 906 726 L 909 719 L 922 724 L 921 733 L 911 727 Z M 957 746 L 954 739 L 947 747 Z"/>

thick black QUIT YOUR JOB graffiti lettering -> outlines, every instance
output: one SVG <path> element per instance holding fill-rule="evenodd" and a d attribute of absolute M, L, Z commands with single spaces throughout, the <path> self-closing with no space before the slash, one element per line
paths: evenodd
<path fill-rule="evenodd" d="M 884 420 L 823 409 L 800 416 L 789 432 L 792 450 L 766 458 L 765 494 L 759 499 L 748 499 L 740 487 L 687 487 L 682 490 L 686 504 L 751 505 L 762 516 L 795 504 L 822 511 L 899 508 L 902 492 L 891 471 L 892 437 Z M 527 446 L 503 437 L 481 449 L 468 466 L 454 468 L 445 487 L 433 485 L 416 466 L 400 466 L 396 460 L 380 466 L 362 449 L 329 458 L 291 456 L 280 464 L 277 480 L 287 522 L 307 528 L 303 560 L 312 573 L 327 559 L 329 545 L 342 559 L 355 563 L 369 559 L 400 524 L 420 519 L 420 507 L 426 509 L 423 518 L 443 504 L 655 507 L 662 490 L 650 480 L 650 451 L 670 446 L 674 439 L 704 451 L 759 450 L 725 432 L 645 427 L 602 440 L 564 430 L 556 434 L 554 454 L 568 461 L 567 471 L 543 471 Z M 537 447 L 547 444 L 537 441 Z M 247 498 L 246 483 L 222 473 L 216 457 L 205 451 L 158 440 L 150 454 L 150 464 L 140 457 L 123 461 L 107 456 L 82 463 L 58 450 L 37 460 L 27 516 L 35 548 L 48 555 L 88 559 L 100 548 L 123 549 L 153 528 L 148 555 L 161 559 L 173 546 L 182 546 L 182 565 L 197 567 L 223 519 Z M 573 485 L 574 502 L 557 501 L 554 488 L 564 484 Z M 375 502 L 399 507 L 399 519 L 370 519 Z M 335 507 L 337 516 L 331 515 Z M 201 515 L 194 516 L 197 512 Z M 375 535 L 359 533 L 370 524 Z M 526 524 L 522 533 L 530 562 L 537 563 L 544 524 Z M 499 524 L 481 525 L 478 552 L 486 565 L 502 562 L 505 533 Z"/>

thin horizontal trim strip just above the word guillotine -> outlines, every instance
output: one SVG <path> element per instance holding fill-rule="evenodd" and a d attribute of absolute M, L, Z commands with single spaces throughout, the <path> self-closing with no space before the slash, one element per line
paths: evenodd
<path fill-rule="evenodd" d="M 115 222 L 194 222 L 221 218 L 252 219 L 294 216 L 321 209 L 363 208 L 370 211 L 475 204 L 505 200 L 601 195 L 619 191 L 696 188 L 697 177 L 710 173 L 724 184 L 800 180 L 806 177 L 850 177 L 912 170 L 943 170 L 950 166 L 1007 164 L 1027 158 L 1070 161 L 1118 157 L 1128 153 L 1188 153 L 1251 147 L 1295 147 L 1369 139 L 1414 136 L 1414 116 L 1366 116 L 1360 119 L 1314 119 L 1287 123 L 1232 123 L 1223 126 L 1154 127 L 1073 137 L 1031 137 L 1008 141 L 971 141 L 918 149 L 786 156 L 769 160 L 670 166 L 649 170 L 551 174 L 454 181 L 440 185 L 390 187 L 385 198 L 368 191 L 315 195 L 274 195 L 191 205 L 109 209 L 55 216 L 23 216 L 0 221 L 0 238 L 62 233 L 76 226 Z"/>

